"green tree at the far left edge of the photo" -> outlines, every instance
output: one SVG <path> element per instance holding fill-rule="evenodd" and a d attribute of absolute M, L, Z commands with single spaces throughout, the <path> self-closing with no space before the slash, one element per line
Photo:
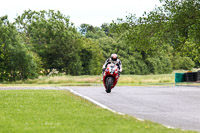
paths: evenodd
<path fill-rule="evenodd" d="M 40 59 L 20 42 L 15 26 L 7 17 L 0 19 L 0 81 L 37 77 Z"/>

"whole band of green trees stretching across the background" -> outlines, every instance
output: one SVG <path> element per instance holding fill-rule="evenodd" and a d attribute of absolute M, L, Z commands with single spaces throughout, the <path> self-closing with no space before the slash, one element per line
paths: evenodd
<path fill-rule="evenodd" d="M 200 67 L 200 1 L 161 0 L 137 18 L 75 27 L 59 11 L 24 11 L 10 23 L 0 17 L 0 81 L 25 80 L 52 69 L 97 75 L 112 53 L 123 74 L 164 74 Z"/>

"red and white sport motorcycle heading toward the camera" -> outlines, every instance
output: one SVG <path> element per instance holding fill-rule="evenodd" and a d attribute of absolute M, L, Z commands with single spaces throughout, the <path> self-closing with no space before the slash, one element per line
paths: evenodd
<path fill-rule="evenodd" d="M 103 84 L 107 93 L 110 93 L 111 89 L 115 87 L 118 78 L 119 74 L 117 65 L 114 63 L 108 64 L 103 75 Z"/>

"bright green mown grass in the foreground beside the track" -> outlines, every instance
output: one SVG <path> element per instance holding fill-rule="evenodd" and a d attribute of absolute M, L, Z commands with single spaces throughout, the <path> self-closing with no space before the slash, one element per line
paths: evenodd
<path fill-rule="evenodd" d="M 61 90 L 1 90 L 1 133 L 193 133 L 102 109 Z"/>

